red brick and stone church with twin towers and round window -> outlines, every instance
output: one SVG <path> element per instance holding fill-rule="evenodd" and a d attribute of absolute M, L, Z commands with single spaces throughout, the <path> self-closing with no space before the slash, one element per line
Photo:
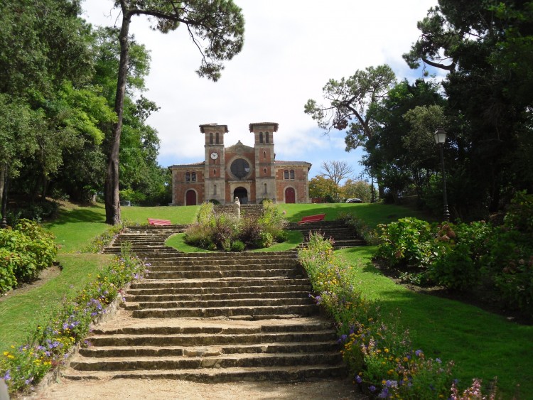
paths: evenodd
<path fill-rule="evenodd" d="M 279 161 L 274 153 L 276 122 L 249 124 L 254 147 L 239 140 L 225 147 L 227 125 L 203 124 L 205 160 L 168 167 L 172 172 L 171 205 L 197 205 L 213 200 L 220 204 L 239 198 L 242 204 L 309 201 L 308 173 L 311 163 Z"/>

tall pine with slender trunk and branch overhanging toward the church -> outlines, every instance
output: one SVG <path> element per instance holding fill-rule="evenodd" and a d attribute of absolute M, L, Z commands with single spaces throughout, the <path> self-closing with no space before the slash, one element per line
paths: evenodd
<path fill-rule="evenodd" d="M 198 75 L 215 82 L 223 69 L 222 61 L 231 60 L 239 53 L 244 40 L 244 18 L 241 9 L 232 0 L 188 0 L 179 3 L 172 0 L 117 0 L 116 5 L 120 6 L 122 11 L 119 33 L 120 63 L 114 104 L 118 119 L 112 130 L 107 153 L 105 181 L 106 222 L 112 225 L 120 222 L 119 149 L 128 74 L 131 18 L 147 16 L 154 23 L 152 28 L 162 33 L 173 31 L 183 23 L 202 55 Z M 203 41 L 207 43 L 205 48 L 202 46 Z"/>

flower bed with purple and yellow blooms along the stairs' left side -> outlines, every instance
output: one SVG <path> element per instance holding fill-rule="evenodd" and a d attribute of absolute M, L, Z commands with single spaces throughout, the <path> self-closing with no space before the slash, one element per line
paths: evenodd
<path fill-rule="evenodd" d="M 34 328 L 29 339 L 12 345 L 0 355 L 0 378 L 10 393 L 32 389 L 54 367 L 58 367 L 82 342 L 91 323 L 106 313 L 122 288 L 131 280 L 141 278 L 144 263 L 124 247 L 83 290 L 72 299 L 64 299 L 48 317 Z"/>

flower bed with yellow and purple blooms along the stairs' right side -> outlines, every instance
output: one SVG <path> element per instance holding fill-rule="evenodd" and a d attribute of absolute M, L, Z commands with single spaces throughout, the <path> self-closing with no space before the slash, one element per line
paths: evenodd
<path fill-rule="evenodd" d="M 298 258 L 313 285 L 311 296 L 335 320 L 343 359 L 363 391 L 384 399 L 461 398 L 453 382 L 453 362 L 426 357 L 412 348 L 409 333 L 400 332 L 394 320 L 386 323 L 379 304 L 367 301 L 353 286 L 352 268 L 335 258 L 329 240 L 311 234 Z M 473 387 L 478 384 L 476 380 Z M 483 398 L 476 393 L 478 397 L 465 398 Z"/>

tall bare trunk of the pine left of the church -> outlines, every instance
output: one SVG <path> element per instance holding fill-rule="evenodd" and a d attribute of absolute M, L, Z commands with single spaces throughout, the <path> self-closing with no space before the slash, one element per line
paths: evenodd
<path fill-rule="evenodd" d="M 113 126 L 112 140 L 109 144 L 107 155 L 107 172 L 105 176 L 105 222 L 111 225 L 120 223 L 120 198 L 119 198 L 119 150 L 120 134 L 122 133 L 122 117 L 124 109 L 124 95 L 126 92 L 126 75 L 128 73 L 128 32 L 131 15 L 122 5 L 122 27 L 120 28 L 120 63 L 117 82 L 117 95 L 114 102 L 114 111 L 117 113 L 117 122 Z"/>

